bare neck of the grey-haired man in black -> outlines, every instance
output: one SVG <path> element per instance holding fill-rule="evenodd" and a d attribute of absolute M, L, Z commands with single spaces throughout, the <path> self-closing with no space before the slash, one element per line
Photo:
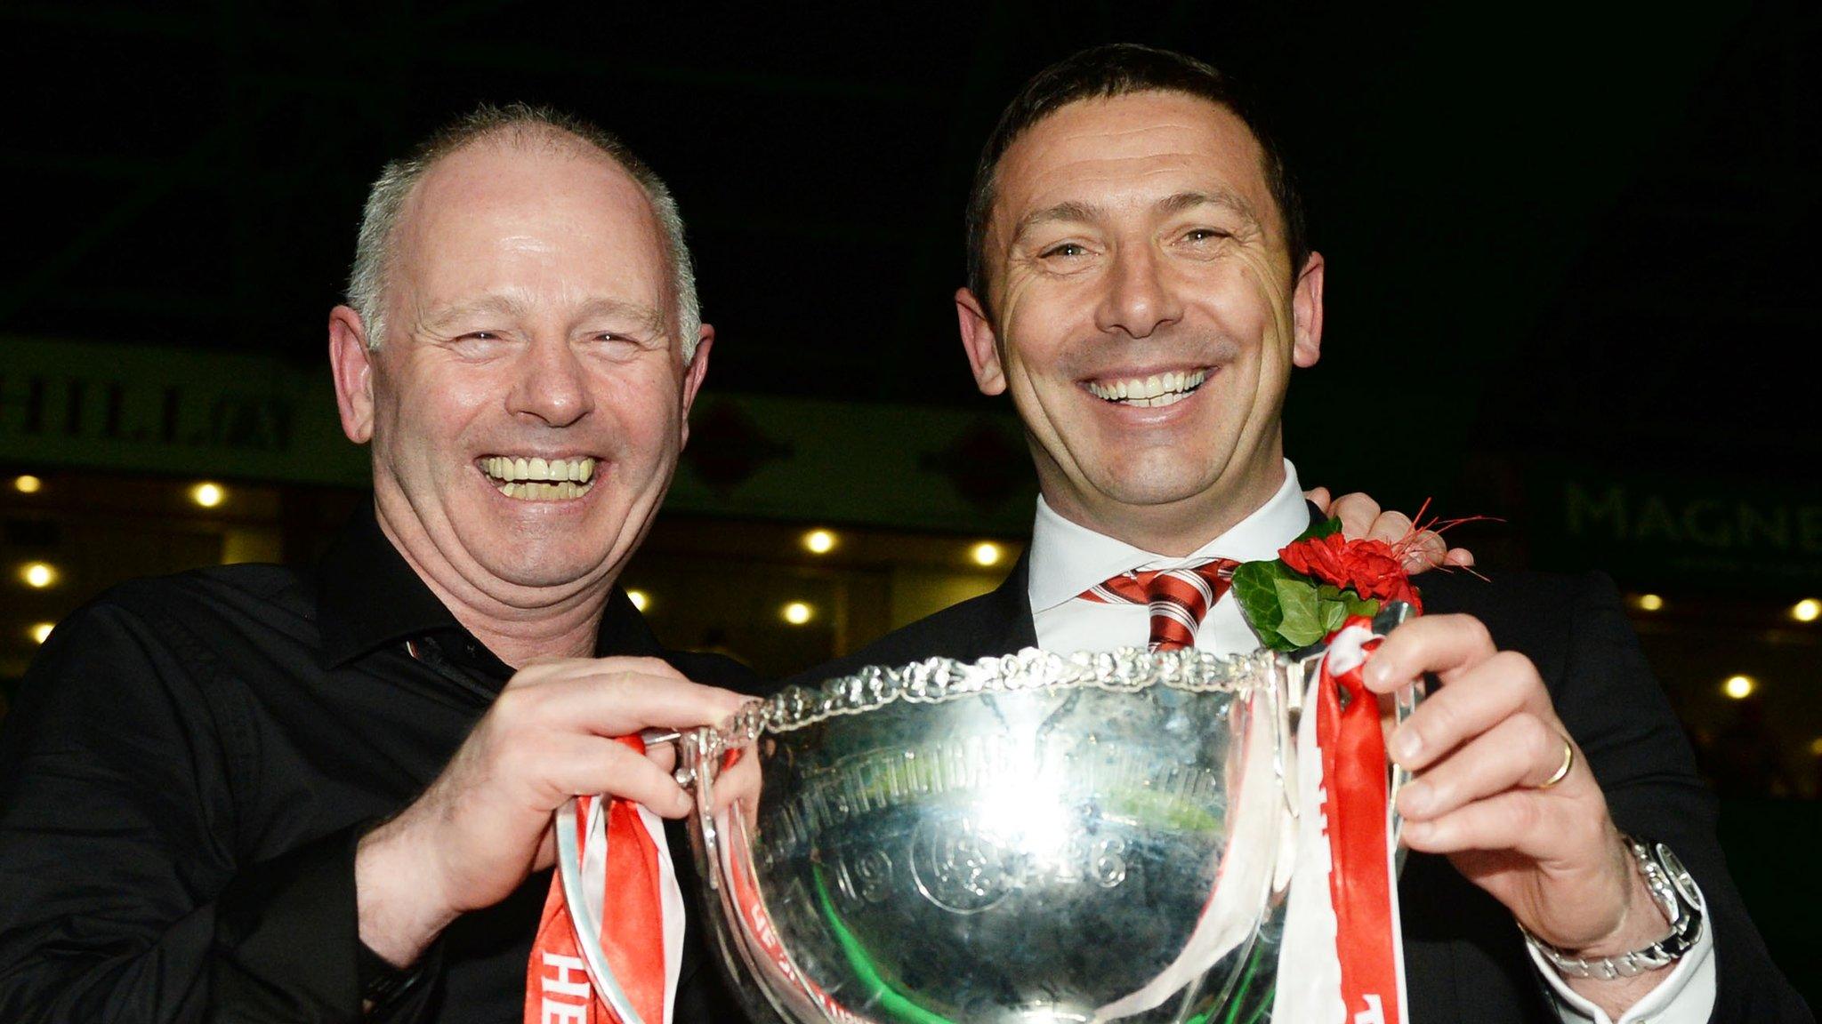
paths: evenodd
<path fill-rule="evenodd" d="M 512 669 L 534 658 L 594 656 L 601 612 L 614 587 L 612 576 L 558 594 L 517 587 L 525 594 L 508 599 L 472 585 L 437 558 L 435 547 L 421 530 L 395 530 L 384 508 L 379 510 L 379 528 L 456 621 Z"/>

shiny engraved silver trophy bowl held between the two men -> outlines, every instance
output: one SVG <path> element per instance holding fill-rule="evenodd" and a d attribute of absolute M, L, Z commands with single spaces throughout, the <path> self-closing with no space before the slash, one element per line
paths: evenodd
<path fill-rule="evenodd" d="M 707 916 L 749 1013 L 1266 1020 L 1295 835 L 1294 722 L 1319 658 L 929 660 L 793 687 L 681 736 Z M 1399 718 L 1414 703 L 1401 698 Z M 727 771 L 731 754 L 758 771 Z M 731 780 L 745 791 L 716 811 Z M 574 913 L 572 809 L 556 835 Z M 621 1020 L 660 1024 L 627 1006 L 596 922 L 578 931 Z"/>

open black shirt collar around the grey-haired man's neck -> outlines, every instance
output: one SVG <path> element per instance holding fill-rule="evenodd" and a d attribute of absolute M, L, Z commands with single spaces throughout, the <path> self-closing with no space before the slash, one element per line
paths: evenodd
<path fill-rule="evenodd" d="M 379 528 L 363 501 L 317 563 L 317 629 L 322 665 L 346 665 L 406 640 L 435 640 L 443 656 L 485 676 L 512 676 L 492 650 L 456 620 Z M 658 638 L 627 594 L 614 587 L 596 630 L 596 656 L 658 654 Z"/>

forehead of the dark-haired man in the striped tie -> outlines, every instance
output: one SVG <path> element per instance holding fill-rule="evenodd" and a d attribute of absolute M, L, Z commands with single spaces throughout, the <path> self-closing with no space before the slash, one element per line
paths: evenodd
<path fill-rule="evenodd" d="M 1283 244 L 1259 140 L 1233 111 L 1188 93 L 1066 104 L 1008 146 L 995 179 L 989 230 L 1000 241 L 1037 210 L 1152 206 L 1193 191 L 1239 199 Z"/>

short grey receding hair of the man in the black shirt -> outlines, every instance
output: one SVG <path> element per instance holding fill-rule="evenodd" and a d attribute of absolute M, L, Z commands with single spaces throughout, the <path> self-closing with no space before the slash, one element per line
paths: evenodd
<path fill-rule="evenodd" d="M 366 193 L 366 208 L 361 213 L 361 233 L 353 246 L 353 268 L 348 271 L 348 304 L 361 315 L 366 326 L 368 348 L 379 348 L 386 335 L 386 275 L 392 270 L 392 235 L 399 226 L 399 213 L 412 189 L 425 173 L 450 153 L 499 135 L 545 135 L 559 138 L 568 135 L 578 142 L 598 149 L 609 160 L 619 164 L 632 180 L 645 191 L 652 204 L 652 217 L 665 244 L 665 259 L 670 264 L 670 292 L 676 297 L 672 326 L 683 346 L 683 361 L 696 355 L 696 335 L 701 333 L 701 304 L 696 299 L 696 270 L 691 262 L 689 244 L 683 241 L 683 215 L 678 213 L 670 189 L 625 142 L 612 133 L 581 120 L 579 117 L 530 104 L 507 104 L 496 108 L 481 104 L 472 113 L 463 115 L 434 135 L 425 138 L 404 159 L 392 160 L 381 169 L 374 188 Z"/>

